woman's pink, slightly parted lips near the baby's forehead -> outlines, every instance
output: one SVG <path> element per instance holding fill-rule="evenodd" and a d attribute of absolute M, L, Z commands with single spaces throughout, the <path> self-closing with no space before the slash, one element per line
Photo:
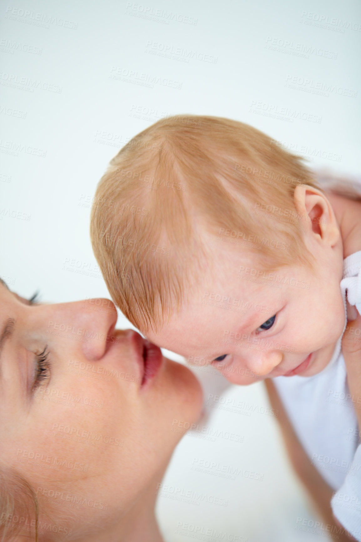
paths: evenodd
<path fill-rule="evenodd" d="M 136 331 L 130 332 L 140 369 L 140 387 L 143 388 L 157 375 L 162 365 L 163 356 L 160 348 L 149 340 L 143 339 Z"/>

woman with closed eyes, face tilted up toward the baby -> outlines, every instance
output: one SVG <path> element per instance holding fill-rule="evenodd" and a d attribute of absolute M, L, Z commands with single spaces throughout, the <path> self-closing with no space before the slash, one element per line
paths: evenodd
<path fill-rule="evenodd" d="M 0 285 L 0 540 L 162 540 L 172 420 L 195 422 L 202 392 L 116 321 L 108 300 L 39 305 Z"/>

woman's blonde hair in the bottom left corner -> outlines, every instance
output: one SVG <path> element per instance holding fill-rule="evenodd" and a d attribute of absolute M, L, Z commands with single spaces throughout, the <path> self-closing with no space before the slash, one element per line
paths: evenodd
<path fill-rule="evenodd" d="M 19 534 L 38 540 L 38 502 L 30 483 L 16 469 L 0 466 L 0 542 Z"/>

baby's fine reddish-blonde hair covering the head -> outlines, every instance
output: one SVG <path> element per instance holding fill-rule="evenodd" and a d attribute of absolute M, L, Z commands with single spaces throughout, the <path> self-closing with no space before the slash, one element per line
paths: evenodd
<path fill-rule="evenodd" d="M 312 267 L 294 205 L 300 184 L 319 188 L 300 157 L 242 122 L 186 115 L 146 128 L 111 160 L 92 209 L 93 249 L 115 303 L 140 330 L 157 331 L 211 267 L 202 231 L 254 241 L 243 246 L 264 269 Z"/>

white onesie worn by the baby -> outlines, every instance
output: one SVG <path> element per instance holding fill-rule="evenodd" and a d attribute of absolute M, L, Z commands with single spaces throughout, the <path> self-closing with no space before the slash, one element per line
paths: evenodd
<path fill-rule="evenodd" d="M 345 312 L 347 295 L 350 305 L 356 305 L 361 314 L 361 250 L 345 258 L 340 288 Z M 354 340 L 361 341 L 357 332 Z M 330 363 L 318 375 L 280 376 L 273 382 L 312 464 L 336 491 L 331 503 L 334 515 L 361 542 L 360 433 L 347 386 L 341 338 Z M 361 397 L 356 401 L 356 408 L 361 409 Z"/>

